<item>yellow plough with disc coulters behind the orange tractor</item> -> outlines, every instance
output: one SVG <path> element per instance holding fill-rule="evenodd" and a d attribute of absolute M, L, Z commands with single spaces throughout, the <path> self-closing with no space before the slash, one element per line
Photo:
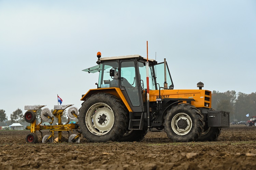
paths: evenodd
<path fill-rule="evenodd" d="M 74 143 L 79 143 L 80 139 L 79 137 L 81 136 L 80 133 L 78 134 L 72 134 L 70 135 L 69 131 L 78 131 L 78 126 L 77 123 L 69 123 L 70 119 L 75 119 L 78 116 L 78 109 L 77 107 L 73 106 L 73 104 L 70 105 L 54 105 L 54 111 L 53 111 L 53 116 L 51 116 L 51 111 L 49 108 L 43 108 L 40 118 L 41 122 L 37 124 L 37 118 L 36 118 L 36 113 L 37 111 L 44 107 L 46 105 L 39 105 L 39 106 L 25 106 L 26 113 L 24 114 L 24 119 L 26 122 L 30 123 L 30 126 L 27 126 L 26 129 L 30 130 L 30 133 L 26 137 L 26 141 L 28 143 L 38 143 L 38 136 L 37 136 L 37 131 L 41 133 L 42 137 L 42 143 L 46 142 L 62 142 L 61 137 L 62 137 L 62 131 L 67 131 L 68 132 L 68 141 L 69 142 L 74 142 Z M 61 117 L 63 115 L 63 112 L 65 109 L 68 109 L 68 122 L 66 124 L 62 124 L 61 122 Z M 53 125 L 54 117 L 58 119 L 58 125 Z M 48 121 L 51 119 L 50 125 L 42 125 L 43 121 Z M 41 130 L 49 130 L 51 132 L 51 135 L 45 135 L 43 137 L 43 133 Z M 53 140 L 55 132 L 58 132 L 58 137 Z"/>

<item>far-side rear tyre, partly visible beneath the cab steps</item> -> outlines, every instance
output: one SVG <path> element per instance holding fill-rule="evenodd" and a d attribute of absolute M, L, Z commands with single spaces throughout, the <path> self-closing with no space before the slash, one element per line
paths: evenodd
<path fill-rule="evenodd" d="M 119 142 L 139 142 L 144 139 L 147 134 L 147 129 L 143 128 L 143 130 L 131 130 L 126 131 L 123 137 L 119 140 Z"/>

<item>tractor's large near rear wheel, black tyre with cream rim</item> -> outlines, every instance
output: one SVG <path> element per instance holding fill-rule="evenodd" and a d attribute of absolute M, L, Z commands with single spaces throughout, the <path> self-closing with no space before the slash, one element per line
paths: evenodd
<path fill-rule="evenodd" d="M 118 141 L 128 128 L 127 115 L 124 103 L 116 96 L 91 95 L 79 109 L 79 132 L 89 142 Z"/>

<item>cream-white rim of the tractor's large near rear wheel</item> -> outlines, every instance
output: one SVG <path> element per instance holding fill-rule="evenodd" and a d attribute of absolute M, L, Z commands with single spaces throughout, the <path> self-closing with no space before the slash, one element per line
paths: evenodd
<path fill-rule="evenodd" d="M 104 121 L 99 122 L 100 119 L 104 119 Z M 105 103 L 96 103 L 91 106 L 85 117 L 85 124 L 88 130 L 98 136 L 107 134 L 112 129 L 114 121 L 114 112 Z"/>

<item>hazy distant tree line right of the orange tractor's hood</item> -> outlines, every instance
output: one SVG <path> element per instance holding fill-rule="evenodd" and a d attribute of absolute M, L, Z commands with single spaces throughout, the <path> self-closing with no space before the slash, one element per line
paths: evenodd
<path fill-rule="evenodd" d="M 249 120 L 256 116 L 256 92 L 245 94 L 236 91 L 212 92 L 212 108 L 230 112 L 230 120 Z M 246 115 L 249 114 L 249 118 Z"/>

